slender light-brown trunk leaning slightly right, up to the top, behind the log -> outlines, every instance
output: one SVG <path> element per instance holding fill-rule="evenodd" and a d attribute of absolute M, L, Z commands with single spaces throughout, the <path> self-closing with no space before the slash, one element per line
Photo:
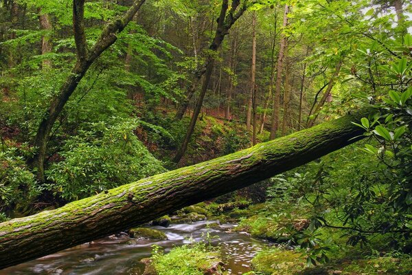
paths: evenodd
<path fill-rule="evenodd" d="M 283 28 L 288 26 L 288 13 L 289 6 L 285 5 Z M 276 76 L 276 87 L 275 94 L 273 94 L 273 113 L 272 113 L 272 124 L 271 124 L 271 140 L 276 137 L 277 129 L 279 129 L 279 107 L 280 107 L 280 89 L 282 85 L 282 69 L 284 63 L 284 52 L 286 49 L 287 37 L 282 34 L 282 39 L 280 41 L 279 55 L 277 57 L 277 76 Z"/>

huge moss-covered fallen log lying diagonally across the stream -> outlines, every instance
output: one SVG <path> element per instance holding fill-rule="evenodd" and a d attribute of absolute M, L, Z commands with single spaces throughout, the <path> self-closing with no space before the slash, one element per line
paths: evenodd
<path fill-rule="evenodd" d="M 351 144 L 362 134 L 346 115 L 231 155 L 141 179 L 56 210 L 0 223 L 0 269 L 52 254 L 185 206 L 255 184 Z"/>

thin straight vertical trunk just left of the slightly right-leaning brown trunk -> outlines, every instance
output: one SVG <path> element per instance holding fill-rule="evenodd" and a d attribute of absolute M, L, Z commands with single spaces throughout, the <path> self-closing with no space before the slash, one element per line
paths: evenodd
<path fill-rule="evenodd" d="M 253 11 L 252 16 L 252 69 L 251 69 L 251 111 L 253 112 L 253 135 L 252 144 L 256 144 L 256 12 Z M 249 115 L 249 111 L 248 111 Z M 250 129 L 250 118 L 249 118 L 249 129 Z"/>

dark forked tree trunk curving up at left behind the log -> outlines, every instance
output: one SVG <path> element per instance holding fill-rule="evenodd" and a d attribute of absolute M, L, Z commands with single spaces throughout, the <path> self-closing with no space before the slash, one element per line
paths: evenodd
<path fill-rule="evenodd" d="M 108 23 L 98 41 L 91 50 L 87 47 L 86 34 L 84 32 L 84 0 L 73 0 L 73 31 L 76 42 L 77 61 L 67 77 L 65 83 L 60 87 L 57 96 L 52 98 L 49 109 L 38 126 L 34 146 L 38 148 L 35 155 L 27 159 L 27 164 L 32 168 L 37 168 L 37 179 L 44 181 L 44 164 L 47 151 L 47 143 L 52 133 L 54 122 L 62 112 L 71 94 L 76 90 L 80 80 L 86 74 L 94 61 L 117 41 L 116 34 L 122 32 L 126 25 L 133 19 L 145 0 L 136 0 L 123 17 Z"/>

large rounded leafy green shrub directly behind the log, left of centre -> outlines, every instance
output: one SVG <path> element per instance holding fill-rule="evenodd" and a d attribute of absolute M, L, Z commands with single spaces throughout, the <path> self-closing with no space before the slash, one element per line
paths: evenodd
<path fill-rule="evenodd" d="M 71 201 L 164 172 L 133 131 L 139 121 L 112 118 L 89 124 L 67 140 L 47 170 L 45 188 Z"/>

